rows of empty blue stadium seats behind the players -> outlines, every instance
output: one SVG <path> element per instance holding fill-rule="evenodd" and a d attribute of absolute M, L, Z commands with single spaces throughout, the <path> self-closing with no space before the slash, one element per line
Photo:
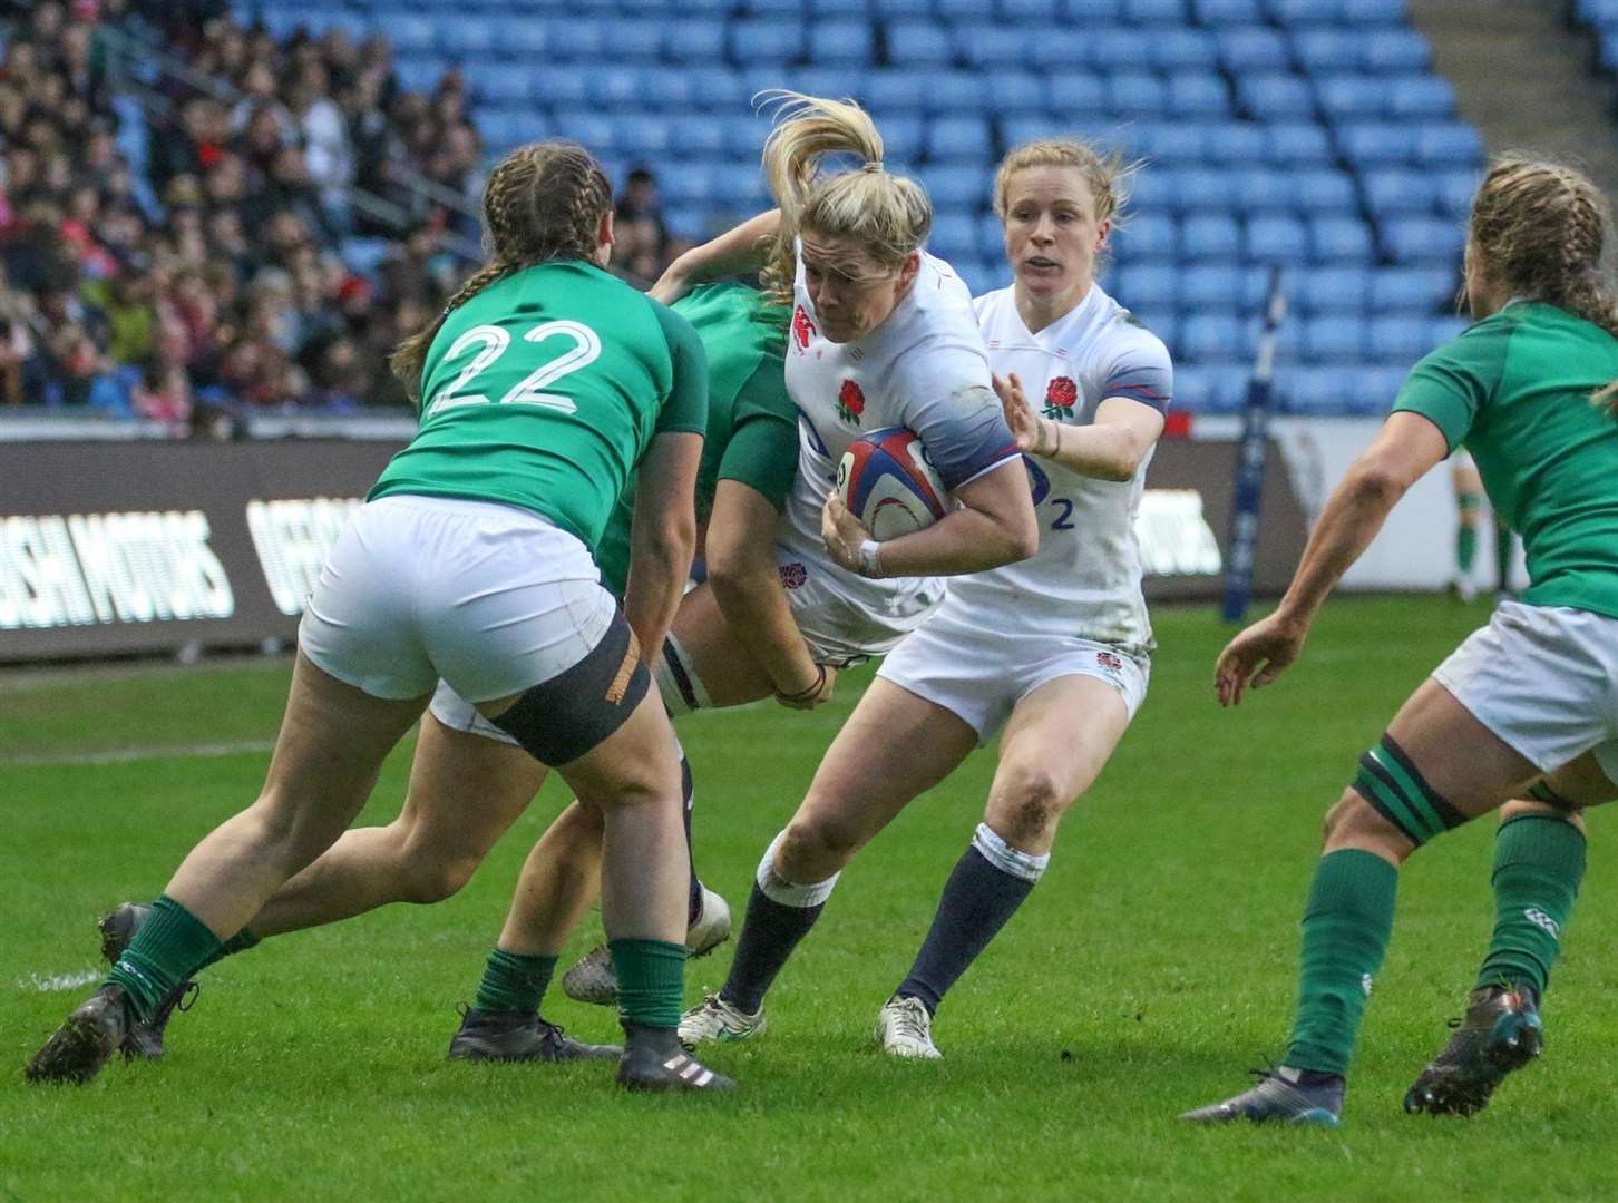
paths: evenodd
<path fill-rule="evenodd" d="M 1144 158 L 1105 285 L 1171 346 L 1180 403 L 1241 404 L 1269 267 L 1293 317 L 1278 386 L 1367 412 L 1455 328 L 1476 129 L 1403 0 L 238 0 L 277 32 L 380 21 L 400 79 L 463 65 L 490 154 L 542 134 L 659 173 L 701 233 L 767 202 L 754 92 L 854 95 L 934 199 L 932 249 L 1008 281 L 995 160 L 1079 133 Z M 1618 0 L 1578 0 L 1618 70 Z M 1142 52 L 1144 47 L 1149 50 Z M 1396 382 L 1393 382 L 1396 386 Z"/>

